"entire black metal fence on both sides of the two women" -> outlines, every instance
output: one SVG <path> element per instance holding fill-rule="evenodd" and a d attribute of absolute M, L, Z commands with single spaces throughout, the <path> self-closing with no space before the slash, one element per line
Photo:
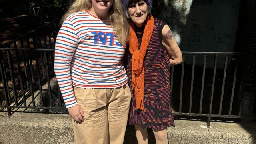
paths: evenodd
<path fill-rule="evenodd" d="M 57 31 L 58 20 L 0 48 L 1 111 L 67 113 L 54 74 Z M 247 54 L 182 54 L 183 63 L 171 67 L 176 117 L 204 117 L 208 126 L 214 118 L 255 118 L 242 113 Z"/>

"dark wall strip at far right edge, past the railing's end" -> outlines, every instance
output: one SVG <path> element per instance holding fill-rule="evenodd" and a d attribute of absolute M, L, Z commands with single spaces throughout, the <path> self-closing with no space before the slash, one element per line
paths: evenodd
<path fill-rule="evenodd" d="M 256 115 L 256 0 L 244 0 L 242 3 L 243 15 L 240 22 L 240 44 L 248 55 L 248 71 L 246 72 L 246 85 L 243 98 L 242 114 Z"/>

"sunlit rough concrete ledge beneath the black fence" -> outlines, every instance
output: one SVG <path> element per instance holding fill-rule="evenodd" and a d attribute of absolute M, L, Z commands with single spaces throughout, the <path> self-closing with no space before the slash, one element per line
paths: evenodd
<path fill-rule="evenodd" d="M 176 120 L 168 128 L 172 144 L 256 144 L 256 124 Z M 149 132 L 149 143 L 154 135 Z M 151 132 L 151 133 L 150 133 Z M 124 144 L 136 144 L 134 127 L 128 126 Z M 0 144 L 74 144 L 70 117 L 64 114 L 0 113 Z"/>

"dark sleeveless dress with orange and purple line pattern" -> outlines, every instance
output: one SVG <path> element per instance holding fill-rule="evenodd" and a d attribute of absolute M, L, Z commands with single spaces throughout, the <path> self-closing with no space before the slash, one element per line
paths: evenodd
<path fill-rule="evenodd" d="M 140 124 L 142 128 L 163 130 L 174 126 L 170 102 L 170 64 L 169 55 L 162 45 L 162 28 L 166 23 L 154 18 L 154 30 L 149 48 L 144 58 L 145 88 L 144 107 L 146 112 L 136 109 L 134 92 L 130 105 L 129 124 Z M 143 34 L 137 34 L 139 48 Z M 126 48 L 124 65 L 128 84 L 132 88 L 132 54 Z"/>

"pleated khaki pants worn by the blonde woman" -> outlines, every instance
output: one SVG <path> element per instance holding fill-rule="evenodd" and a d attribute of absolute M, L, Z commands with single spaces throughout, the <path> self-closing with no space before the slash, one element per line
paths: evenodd
<path fill-rule="evenodd" d="M 76 100 L 84 110 L 84 122 L 72 119 L 76 144 L 122 144 L 131 93 L 128 84 L 118 88 L 77 88 Z"/>

